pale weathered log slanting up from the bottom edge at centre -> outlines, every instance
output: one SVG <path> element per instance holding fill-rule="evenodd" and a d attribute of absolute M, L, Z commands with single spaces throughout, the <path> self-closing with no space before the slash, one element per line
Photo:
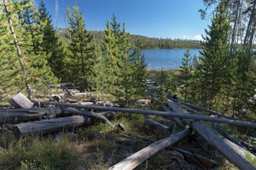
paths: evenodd
<path fill-rule="evenodd" d="M 109 167 L 108 170 L 131 170 L 140 165 L 143 161 L 147 160 L 149 157 L 154 156 L 160 150 L 165 149 L 171 144 L 175 144 L 180 139 L 183 139 L 185 136 L 191 133 L 190 128 L 184 129 L 182 132 L 173 135 L 172 137 L 168 137 L 165 139 L 161 139 L 159 141 L 154 142 L 153 144 L 149 144 L 147 147 L 142 150 L 137 151 L 135 154 L 125 158 L 123 161 L 119 161 L 119 163 Z"/>

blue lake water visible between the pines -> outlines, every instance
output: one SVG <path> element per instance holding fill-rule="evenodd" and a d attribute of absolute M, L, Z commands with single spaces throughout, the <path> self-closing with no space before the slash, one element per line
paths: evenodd
<path fill-rule="evenodd" d="M 193 58 L 199 55 L 200 49 L 189 49 L 190 56 Z M 143 49 L 145 62 L 148 69 L 177 69 L 182 63 L 182 58 L 186 49 Z"/>

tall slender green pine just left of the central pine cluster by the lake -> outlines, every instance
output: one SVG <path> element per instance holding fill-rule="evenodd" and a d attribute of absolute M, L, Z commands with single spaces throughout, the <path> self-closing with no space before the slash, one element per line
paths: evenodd
<path fill-rule="evenodd" d="M 94 74 L 93 67 L 95 65 L 94 46 L 91 43 L 93 37 L 85 29 L 84 17 L 79 13 L 78 7 L 73 7 L 73 13 L 67 8 L 67 17 L 71 38 L 69 45 L 71 77 L 82 90 L 89 89 L 90 82 L 88 80 Z"/>

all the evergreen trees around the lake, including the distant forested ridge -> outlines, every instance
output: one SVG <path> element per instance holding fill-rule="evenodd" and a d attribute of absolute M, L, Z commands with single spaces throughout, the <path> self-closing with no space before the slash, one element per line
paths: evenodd
<path fill-rule="evenodd" d="M 67 8 L 68 27 L 55 30 L 41 2 L 3 0 L 0 10 L 0 87 L 7 94 L 49 83 L 74 82 L 81 91 L 117 99 L 121 105 L 145 96 L 143 48 L 202 48 L 184 54 L 178 74 L 161 82 L 170 93 L 217 111 L 238 111 L 255 93 L 256 1 L 204 0 L 216 5 L 202 42 L 130 35 L 113 14 L 105 31 L 88 31 L 79 8 Z M 161 94 L 163 95 L 163 94 Z"/>

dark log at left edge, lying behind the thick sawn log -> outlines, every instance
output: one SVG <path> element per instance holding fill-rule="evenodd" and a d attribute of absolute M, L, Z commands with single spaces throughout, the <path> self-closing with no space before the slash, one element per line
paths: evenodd
<path fill-rule="evenodd" d="M 36 121 L 42 119 L 44 114 L 27 114 L 24 112 L 0 113 L 0 124 Z"/>

